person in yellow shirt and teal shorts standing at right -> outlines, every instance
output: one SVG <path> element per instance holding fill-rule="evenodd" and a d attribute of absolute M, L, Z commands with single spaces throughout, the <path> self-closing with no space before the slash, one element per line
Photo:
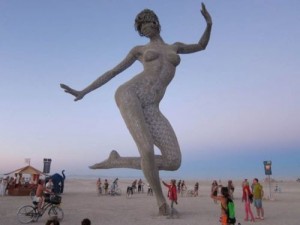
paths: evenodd
<path fill-rule="evenodd" d="M 264 196 L 263 186 L 258 182 L 257 178 L 253 180 L 253 202 L 256 208 L 256 219 L 264 219 L 264 208 L 262 206 L 262 198 Z"/>

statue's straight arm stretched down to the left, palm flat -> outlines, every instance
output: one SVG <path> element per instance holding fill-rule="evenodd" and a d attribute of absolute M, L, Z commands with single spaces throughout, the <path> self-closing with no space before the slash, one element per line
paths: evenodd
<path fill-rule="evenodd" d="M 86 88 L 84 88 L 81 91 L 72 89 L 65 84 L 60 84 L 60 87 L 62 89 L 64 89 L 66 93 L 69 93 L 69 94 L 75 96 L 74 101 L 78 101 L 78 100 L 82 99 L 89 92 L 101 87 L 102 85 L 107 83 L 109 80 L 114 78 L 116 75 L 118 75 L 119 73 L 123 72 L 128 67 L 130 67 L 137 60 L 137 52 L 138 52 L 137 47 L 133 48 L 122 62 L 120 62 L 113 69 L 102 74 L 94 82 L 92 82 L 90 85 L 88 85 Z"/>

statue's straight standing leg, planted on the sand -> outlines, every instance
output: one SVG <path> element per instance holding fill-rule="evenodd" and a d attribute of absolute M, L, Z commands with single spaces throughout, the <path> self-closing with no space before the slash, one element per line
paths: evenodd
<path fill-rule="evenodd" d="M 127 128 L 138 147 L 139 153 L 141 155 L 141 168 L 143 170 L 145 178 L 147 179 L 155 193 L 160 214 L 168 214 L 168 206 L 162 192 L 159 178 L 159 167 L 155 162 L 155 136 L 153 136 L 150 129 L 151 126 L 149 126 L 146 121 L 147 113 L 145 114 L 145 108 L 142 108 L 141 102 L 137 98 L 137 96 L 131 94 L 130 92 L 117 93 L 116 101 L 122 117 L 127 125 Z M 164 154 L 162 153 L 162 156 L 163 155 Z"/>

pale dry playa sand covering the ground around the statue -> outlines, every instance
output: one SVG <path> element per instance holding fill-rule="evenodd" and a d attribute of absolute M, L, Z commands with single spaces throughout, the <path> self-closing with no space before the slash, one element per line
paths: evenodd
<path fill-rule="evenodd" d="M 112 180 L 110 180 L 110 183 Z M 65 192 L 62 194 L 61 207 L 65 213 L 61 225 L 80 225 L 82 219 L 89 218 L 92 225 L 216 225 L 219 223 L 220 205 L 210 199 L 211 181 L 199 181 L 198 197 L 181 197 L 175 205 L 179 218 L 158 216 L 158 207 L 154 196 L 144 193 L 135 193 L 126 198 L 125 191 L 132 180 L 119 179 L 121 196 L 98 196 L 96 193 L 96 180 L 67 179 Z M 196 181 L 186 181 L 188 189 L 192 189 Z M 245 222 L 244 204 L 241 202 L 241 181 L 234 181 L 236 187 L 235 205 L 237 222 L 241 225 L 251 224 Z M 262 182 L 265 195 L 269 196 L 268 183 Z M 296 181 L 278 182 L 281 193 L 272 193 L 272 200 L 264 200 L 265 219 L 257 220 L 259 225 L 297 225 L 300 219 L 300 183 Z M 146 186 L 145 186 L 146 187 Z M 164 188 L 164 187 L 163 187 Z M 272 190 L 275 183 L 272 184 Z M 146 189 L 146 188 L 145 188 Z M 164 188 L 167 193 L 167 189 Z M 18 208 L 31 204 L 29 196 L 12 197 L 0 196 L 0 225 L 19 225 L 16 218 Z M 252 205 L 253 213 L 256 211 Z M 34 222 L 44 225 L 48 217 L 46 214 Z M 253 224 L 253 223 L 252 223 Z"/>

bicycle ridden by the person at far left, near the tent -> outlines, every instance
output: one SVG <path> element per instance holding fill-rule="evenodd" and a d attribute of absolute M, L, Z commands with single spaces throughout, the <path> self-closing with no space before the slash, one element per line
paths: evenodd
<path fill-rule="evenodd" d="M 64 212 L 59 207 L 61 197 L 58 195 L 51 195 L 50 198 L 45 199 L 42 211 L 38 211 L 38 202 L 33 201 L 33 205 L 22 206 L 17 212 L 17 218 L 20 223 L 36 222 L 48 210 L 49 217 L 56 217 L 59 221 L 64 218 Z"/>

